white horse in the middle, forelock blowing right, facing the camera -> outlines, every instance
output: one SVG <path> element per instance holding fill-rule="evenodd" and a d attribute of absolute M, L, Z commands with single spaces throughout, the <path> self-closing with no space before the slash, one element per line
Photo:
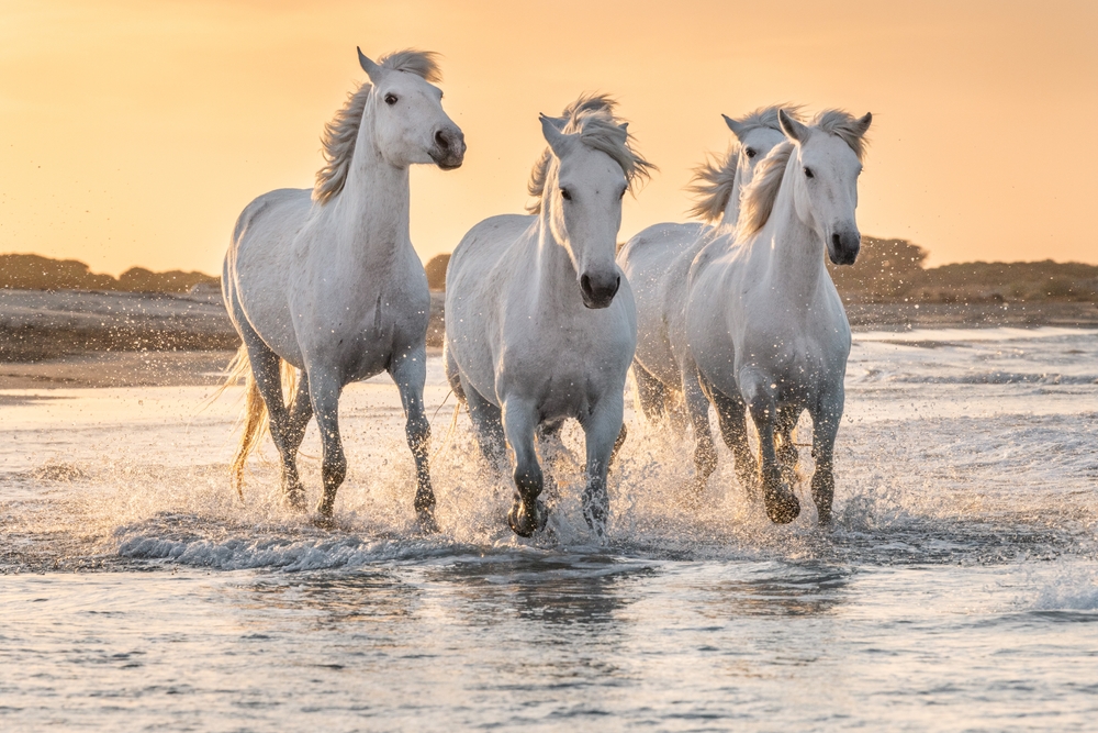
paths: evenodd
<path fill-rule="evenodd" d="M 629 284 L 614 263 L 621 197 L 651 167 L 605 97 L 541 118 L 536 215 L 477 224 L 453 251 L 446 288 L 446 371 L 491 462 L 515 454 L 512 530 L 545 526 L 535 432 L 575 418 L 586 436 L 583 513 L 601 536 L 606 473 L 625 437 L 625 378 L 637 343 Z"/>

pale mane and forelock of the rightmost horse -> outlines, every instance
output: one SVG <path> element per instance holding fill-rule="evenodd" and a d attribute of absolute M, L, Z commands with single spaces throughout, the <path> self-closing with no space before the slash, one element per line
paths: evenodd
<path fill-rule="evenodd" d="M 830 135 L 836 135 L 850 146 L 858 159 L 865 154 L 865 130 L 854 115 L 842 110 L 824 110 L 817 114 L 810 126 Z M 761 230 L 774 210 L 782 178 L 793 155 L 794 143 L 785 141 L 775 145 L 770 154 L 759 163 L 754 178 L 743 191 L 740 209 L 739 235 L 750 236 Z"/>

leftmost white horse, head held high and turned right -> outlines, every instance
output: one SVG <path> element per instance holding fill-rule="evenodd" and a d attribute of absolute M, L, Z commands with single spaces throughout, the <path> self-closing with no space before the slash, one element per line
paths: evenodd
<path fill-rule="evenodd" d="M 401 392 L 416 464 L 415 509 L 433 529 L 435 497 L 424 414 L 430 293 L 408 238 L 408 166 L 461 165 L 461 131 L 441 107 L 436 55 L 401 51 L 376 64 L 358 52 L 370 78 L 325 127 L 327 165 L 309 189 L 280 189 L 248 204 L 225 257 L 225 304 L 244 345 L 236 374 L 247 377 L 244 435 L 233 460 L 237 490 L 248 453 L 269 415 L 282 458 L 282 488 L 304 506 L 295 457 L 315 414 L 323 444 L 322 520 L 332 517 L 347 474 L 339 440 L 344 386 L 385 370 Z M 280 363 L 299 370 L 289 407 Z"/>

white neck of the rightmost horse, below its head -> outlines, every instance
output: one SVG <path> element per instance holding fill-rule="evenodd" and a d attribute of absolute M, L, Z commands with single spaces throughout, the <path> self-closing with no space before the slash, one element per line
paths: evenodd
<path fill-rule="evenodd" d="M 765 277 L 773 285 L 772 291 L 807 303 L 828 275 L 824 240 L 797 215 L 793 177 L 799 170 L 797 156 L 791 156 L 770 219 L 755 235 L 753 246 L 763 247 L 770 258 Z"/>

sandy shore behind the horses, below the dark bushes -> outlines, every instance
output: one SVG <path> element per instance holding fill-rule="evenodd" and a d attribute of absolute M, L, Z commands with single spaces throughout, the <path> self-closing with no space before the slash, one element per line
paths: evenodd
<path fill-rule="evenodd" d="M 432 306 L 437 354 L 442 293 Z M 1094 302 L 848 303 L 847 313 L 855 332 L 1098 329 Z M 216 385 L 238 344 L 220 296 L 0 289 L 0 389 Z"/>

